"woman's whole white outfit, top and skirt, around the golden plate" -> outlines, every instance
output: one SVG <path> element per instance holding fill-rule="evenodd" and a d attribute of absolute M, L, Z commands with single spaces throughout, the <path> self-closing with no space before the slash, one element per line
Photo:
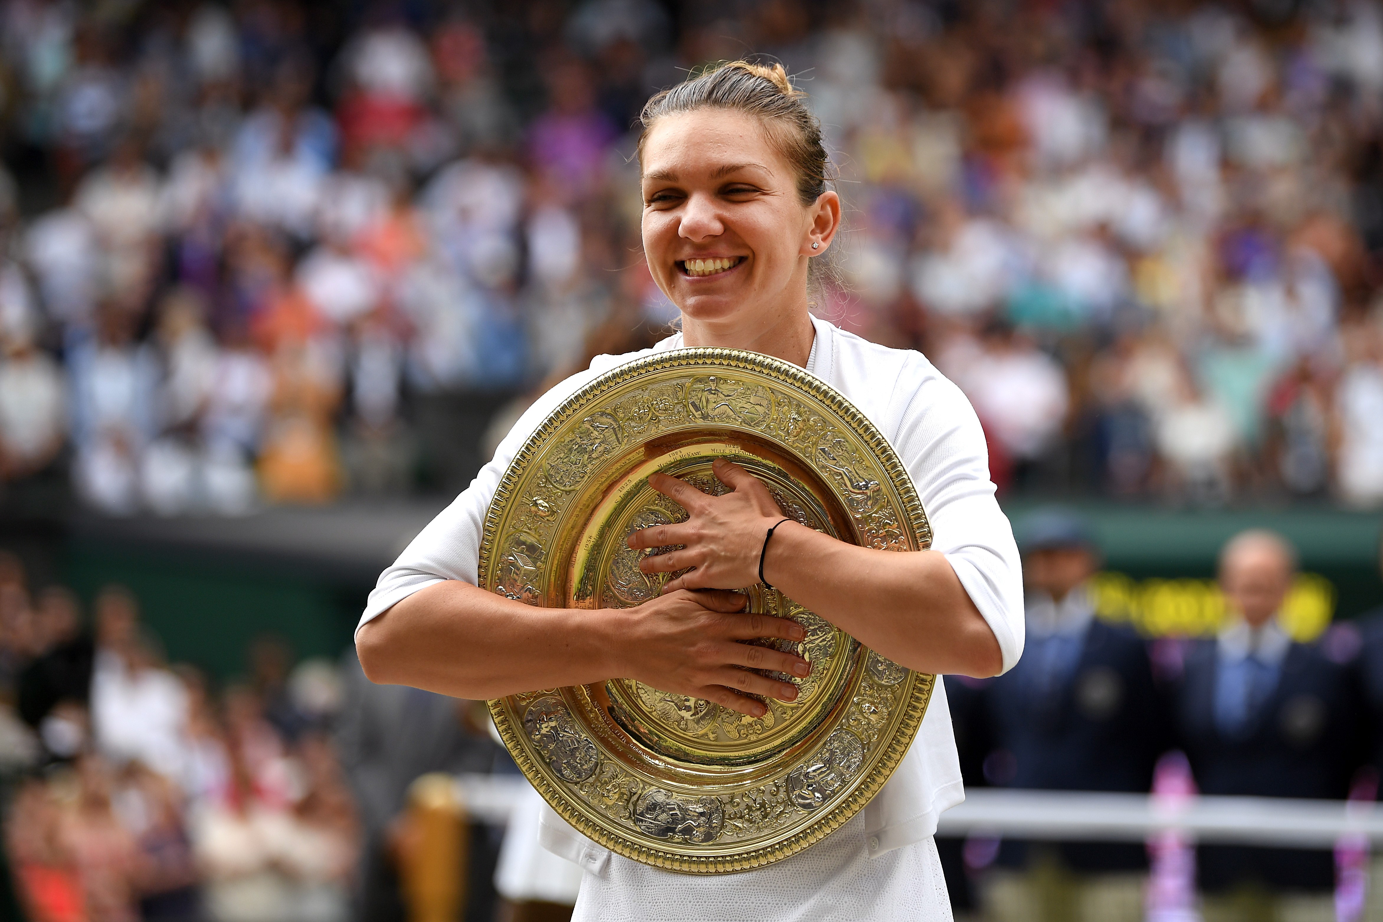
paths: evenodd
<path fill-rule="evenodd" d="M 1023 647 L 1023 594 L 1018 547 L 989 480 L 985 435 L 960 388 L 921 354 L 875 346 L 813 319 L 806 370 L 848 397 L 898 451 L 934 531 L 932 549 L 990 625 L 1004 669 Z M 470 487 L 437 516 L 369 596 L 361 625 L 401 599 L 445 579 L 477 581 L 485 511 L 510 460 L 563 399 L 603 372 L 649 351 L 679 348 L 671 336 L 646 352 L 597 357 L 585 372 L 542 395 L 499 444 Z M 586 871 L 575 918 L 950 918 L 931 836 L 943 810 L 964 799 L 946 690 L 936 683 L 907 756 L 873 802 L 839 831 L 799 856 L 733 875 L 689 878 L 614 856 L 548 811 L 544 845 Z M 824 864 L 823 864 L 824 861 Z M 827 867 L 830 865 L 830 867 Z M 804 883 L 806 883 L 804 886 Z M 685 899 L 692 890 L 698 899 Z M 761 894 L 748 900 L 748 894 Z M 638 894 L 638 897 L 635 897 Z M 651 900 L 651 901 L 650 901 Z M 860 910 L 869 911 L 862 915 Z"/>

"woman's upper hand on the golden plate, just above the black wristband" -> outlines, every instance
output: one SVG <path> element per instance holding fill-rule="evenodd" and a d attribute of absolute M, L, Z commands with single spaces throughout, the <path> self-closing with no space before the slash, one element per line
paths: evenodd
<path fill-rule="evenodd" d="M 685 523 L 654 525 L 629 535 L 629 547 L 635 550 L 683 545 L 682 550 L 639 561 L 639 570 L 646 574 L 671 574 L 693 567 L 669 579 L 664 593 L 752 586 L 759 581 L 763 538 L 769 528 L 786 518 L 769 488 L 750 471 L 723 458 L 715 459 L 711 470 L 734 492 L 711 496 L 676 477 L 649 477 L 649 487 L 686 509 L 689 516 Z"/>

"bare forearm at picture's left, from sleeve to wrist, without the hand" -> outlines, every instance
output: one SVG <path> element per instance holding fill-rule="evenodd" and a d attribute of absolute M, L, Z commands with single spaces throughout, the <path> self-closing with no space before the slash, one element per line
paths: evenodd
<path fill-rule="evenodd" d="M 535 608 L 451 579 L 368 622 L 355 650 L 371 681 L 499 698 L 614 675 L 607 614 Z"/>

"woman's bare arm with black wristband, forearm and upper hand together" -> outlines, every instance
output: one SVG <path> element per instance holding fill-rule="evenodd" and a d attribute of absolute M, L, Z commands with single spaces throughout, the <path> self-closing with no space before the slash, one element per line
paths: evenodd
<path fill-rule="evenodd" d="M 644 572 L 692 572 L 665 590 L 741 589 L 758 582 L 759 553 L 769 527 L 783 518 L 768 488 L 727 460 L 715 476 L 733 493 L 708 496 L 690 484 L 654 474 L 649 484 L 680 503 L 689 520 L 635 532 L 636 549 L 685 545 L 644 557 Z M 773 532 L 763 576 L 860 643 L 920 672 L 993 676 L 1003 654 L 946 557 L 856 547 L 794 521 Z"/>

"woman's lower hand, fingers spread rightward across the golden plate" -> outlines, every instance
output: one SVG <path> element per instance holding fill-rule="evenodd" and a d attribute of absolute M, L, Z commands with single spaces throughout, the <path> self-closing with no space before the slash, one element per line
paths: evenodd
<path fill-rule="evenodd" d="M 797 699 L 797 686 L 759 672 L 808 676 L 812 665 L 794 654 L 743 643 L 798 641 L 806 632 L 794 621 L 743 611 L 745 597 L 725 590 L 679 589 L 611 617 L 614 675 L 762 717 L 768 708 L 750 695 Z"/>

